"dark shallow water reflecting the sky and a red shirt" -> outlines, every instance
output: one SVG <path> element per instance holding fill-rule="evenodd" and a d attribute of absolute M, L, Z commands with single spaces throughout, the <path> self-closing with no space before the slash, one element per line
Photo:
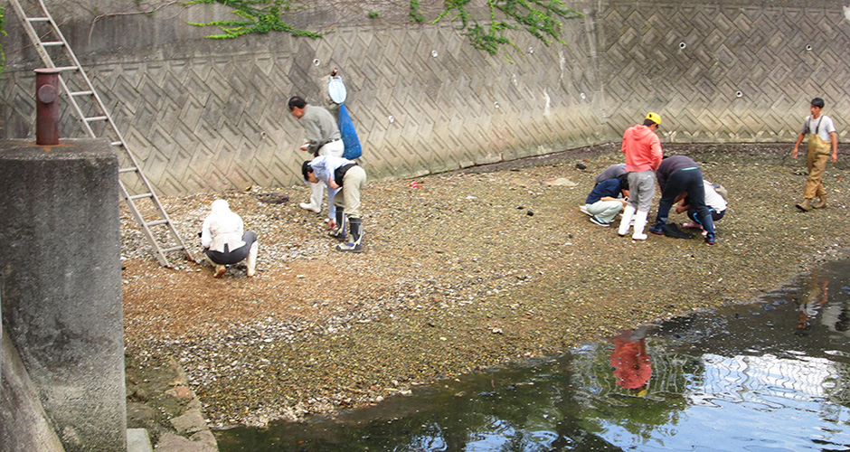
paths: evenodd
<path fill-rule="evenodd" d="M 850 450 L 850 262 L 759 304 L 216 436 L 222 452 Z"/>

